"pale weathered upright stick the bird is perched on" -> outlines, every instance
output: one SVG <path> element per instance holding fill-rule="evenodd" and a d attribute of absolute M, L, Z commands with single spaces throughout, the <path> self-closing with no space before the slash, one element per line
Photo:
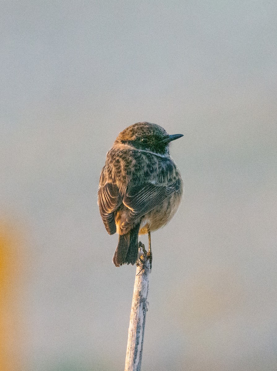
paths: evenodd
<path fill-rule="evenodd" d="M 144 244 L 139 242 L 140 259 L 136 268 L 136 279 L 128 331 L 125 371 L 140 371 L 144 339 L 145 317 L 148 310 L 148 284 L 150 262 Z"/>

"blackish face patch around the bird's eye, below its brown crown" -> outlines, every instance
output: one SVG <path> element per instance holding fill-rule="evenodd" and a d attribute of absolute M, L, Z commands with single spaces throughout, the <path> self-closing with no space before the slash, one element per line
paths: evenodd
<path fill-rule="evenodd" d="M 158 135 L 148 135 L 144 137 L 136 138 L 132 141 L 123 141 L 137 148 L 138 150 L 151 151 L 161 155 L 165 155 L 168 152 L 168 143 L 162 141 L 164 137 Z"/>

